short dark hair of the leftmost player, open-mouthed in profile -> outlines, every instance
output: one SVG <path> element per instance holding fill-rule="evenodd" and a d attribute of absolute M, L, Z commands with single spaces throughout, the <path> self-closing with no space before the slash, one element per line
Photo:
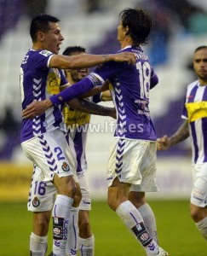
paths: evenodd
<path fill-rule="evenodd" d="M 30 26 L 30 36 L 32 38 L 32 42 L 37 41 L 37 32 L 48 32 L 49 31 L 49 22 L 58 22 L 60 21 L 54 16 L 40 14 L 35 16 L 31 21 Z"/>

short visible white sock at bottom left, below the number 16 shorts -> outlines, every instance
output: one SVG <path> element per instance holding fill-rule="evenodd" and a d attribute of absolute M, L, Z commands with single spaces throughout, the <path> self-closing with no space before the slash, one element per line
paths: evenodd
<path fill-rule="evenodd" d="M 37 236 L 31 233 L 30 251 L 32 256 L 44 256 L 48 248 L 48 236 Z"/>

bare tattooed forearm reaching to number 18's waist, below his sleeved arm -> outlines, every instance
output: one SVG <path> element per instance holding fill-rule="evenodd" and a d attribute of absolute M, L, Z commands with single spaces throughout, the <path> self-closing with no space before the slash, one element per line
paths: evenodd
<path fill-rule="evenodd" d="M 95 104 L 94 102 L 89 102 L 86 99 L 79 99 L 79 98 L 73 99 L 67 103 L 71 108 L 84 113 L 91 113 L 91 114 L 102 115 L 102 116 L 111 116 L 113 119 L 116 119 L 115 108 L 104 107 L 104 106 Z"/>

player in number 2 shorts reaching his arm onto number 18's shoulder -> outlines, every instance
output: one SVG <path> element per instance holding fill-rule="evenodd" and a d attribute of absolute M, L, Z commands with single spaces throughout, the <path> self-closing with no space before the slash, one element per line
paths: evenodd
<path fill-rule="evenodd" d="M 135 62 L 135 55 L 120 53 L 115 55 L 58 55 L 64 40 L 60 20 L 51 15 L 38 15 L 32 19 L 30 49 L 20 66 L 20 91 L 22 108 L 33 101 L 41 101 L 64 90 L 68 82 L 60 68 L 92 67 L 106 61 Z M 71 207 L 78 207 L 77 195 L 81 195 L 75 172 L 74 158 L 66 143 L 66 127 L 62 118 L 62 106 L 48 109 L 43 115 L 23 119 L 20 135 L 21 146 L 26 156 L 43 172 L 44 181 L 52 181 L 58 191 L 53 208 L 53 252 L 66 254 L 67 228 Z M 43 192 L 43 187 L 39 187 Z M 81 196 L 79 196 L 81 198 Z M 35 201 L 38 204 L 38 201 Z M 38 221 L 38 218 L 37 218 Z M 42 219 L 39 219 L 41 222 Z M 41 223 L 43 226 L 45 223 Z M 34 225 L 33 230 L 36 230 Z M 42 230 L 41 230 L 42 231 Z M 32 255 L 46 252 L 46 234 L 32 232 Z M 42 246 L 41 246 L 42 245 Z"/>

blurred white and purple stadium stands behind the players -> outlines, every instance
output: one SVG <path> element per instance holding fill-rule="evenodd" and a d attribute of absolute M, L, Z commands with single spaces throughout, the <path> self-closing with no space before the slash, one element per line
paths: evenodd
<path fill-rule="evenodd" d="M 82 45 L 93 54 L 112 53 L 117 42 L 118 14 L 127 7 L 150 10 L 153 27 L 150 44 L 143 49 L 158 73 L 151 91 L 151 113 L 158 137 L 172 134 L 181 125 L 183 97 L 194 79 L 193 51 L 207 42 L 205 0 L 0 0 L 0 201 L 26 200 L 32 163 L 20 148 L 20 62 L 32 46 L 30 20 L 39 12 L 55 15 L 68 45 Z M 111 106 L 112 103 L 107 104 Z M 94 131 L 92 131 L 94 129 Z M 96 129 L 96 131 L 95 131 Z M 106 160 L 112 138 L 112 119 L 93 116 L 87 156 L 89 183 L 94 199 L 106 198 Z M 156 199 L 189 198 L 190 141 L 158 152 Z"/>

